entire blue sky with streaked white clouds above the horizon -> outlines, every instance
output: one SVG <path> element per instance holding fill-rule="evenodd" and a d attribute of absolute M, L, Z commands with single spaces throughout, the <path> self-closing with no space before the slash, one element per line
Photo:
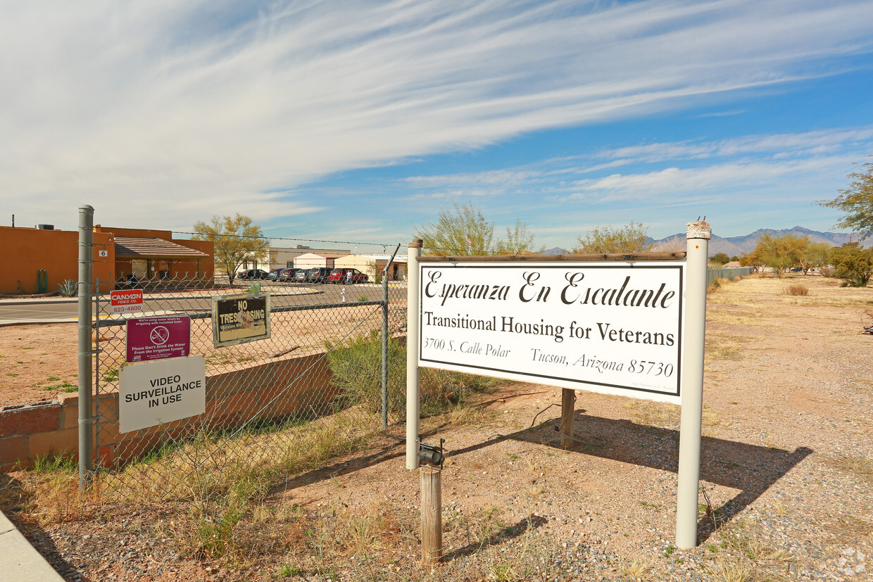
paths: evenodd
<path fill-rule="evenodd" d="M 869 0 L 4 3 L 0 224 L 74 229 L 89 203 L 398 243 L 469 201 L 546 247 L 700 215 L 828 230 L 815 201 L 873 154 L 871 22 Z"/>

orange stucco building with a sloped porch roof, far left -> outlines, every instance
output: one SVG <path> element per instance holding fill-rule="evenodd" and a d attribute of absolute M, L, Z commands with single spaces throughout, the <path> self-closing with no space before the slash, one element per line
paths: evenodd
<path fill-rule="evenodd" d="M 135 277 L 145 288 L 213 284 L 214 250 L 209 241 L 174 240 L 169 230 L 93 231 L 93 275 L 100 291 Z M 0 294 L 58 291 L 79 280 L 79 231 L 0 226 Z"/>

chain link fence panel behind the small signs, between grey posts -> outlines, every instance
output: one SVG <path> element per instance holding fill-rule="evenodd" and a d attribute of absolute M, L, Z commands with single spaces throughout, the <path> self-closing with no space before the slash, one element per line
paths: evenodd
<path fill-rule="evenodd" d="M 142 291 L 137 312 L 94 298 L 94 479 L 120 501 L 184 498 L 222 480 L 316 469 L 403 421 L 403 280 L 229 284 L 175 276 Z M 217 342 L 213 305 L 237 296 L 269 296 L 268 338 Z M 205 366 L 205 412 L 120 432 L 122 369 L 148 366 L 130 361 L 128 343 L 139 341 L 136 323 L 155 316 L 189 318 L 189 356 Z"/>

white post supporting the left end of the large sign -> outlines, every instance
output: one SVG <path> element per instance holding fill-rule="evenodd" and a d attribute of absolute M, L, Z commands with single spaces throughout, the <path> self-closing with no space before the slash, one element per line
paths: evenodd
<path fill-rule="evenodd" d="M 406 263 L 406 468 L 418 468 L 419 383 L 418 373 L 418 319 L 419 273 L 418 257 L 422 256 L 420 238 L 409 243 Z"/>

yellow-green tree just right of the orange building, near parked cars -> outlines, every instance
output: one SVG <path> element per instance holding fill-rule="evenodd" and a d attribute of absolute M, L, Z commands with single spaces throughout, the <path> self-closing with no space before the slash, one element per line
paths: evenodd
<path fill-rule="evenodd" d="M 264 261 L 270 250 L 261 227 L 238 212 L 234 216 L 212 216 L 209 223 L 197 221 L 194 231 L 195 240 L 215 243 L 216 263 L 227 270 L 230 283 L 243 264 Z"/>

